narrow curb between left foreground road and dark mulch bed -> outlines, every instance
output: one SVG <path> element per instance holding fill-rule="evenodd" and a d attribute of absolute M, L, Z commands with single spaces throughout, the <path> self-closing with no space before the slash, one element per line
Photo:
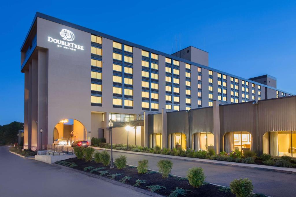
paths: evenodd
<path fill-rule="evenodd" d="M 55 164 L 53 163 L 52 165 L 56 166 L 56 167 L 59 167 L 59 168 L 64 168 L 64 169 L 68 169 L 68 170 L 74 170 L 75 172 L 79 172 L 79 173 L 82 173 L 84 175 L 87 175 L 89 177 L 93 177 L 93 178 L 98 178 L 98 179 L 101 179 L 101 180 L 104 180 L 106 182 L 109 182 L 109 183 L 112 183 L 114 185 L 119 185 L 119 186 L 123 186 L 123 187 L 126 187 L 128 189 L 132 189 L 134 191 L 137 191 L 137 192 L 140 192 L 140 193 L 143 193 L 143 194 L 146 194 L 146 195 L 149 195 L 149 196 L 154 196 L 154 197 L 160 197 L 161 195 L 157 194 L 157 193 L 153 193 L 153 192 L 150 192 L 150 191 L 147 191 L 147 190 L 144 190 L 144 189 L 141 189 L 141 188 L 137 188 L 137 187 L 134 187 L 132 185 L 128 185 L 128 184 L 125 184 L 125 183 L 120 183 L 116 180 L 112 180 L 112 179 L 108 179 L 106 177 L 102 177 L 102 176 L 99 176 L 99 175 L 94 175 L 94 174 L 91 174 L 89 172 L 83 172 L 81 170 L 76 170 L 76 169 L 73 169 L 73 168 L 69 168 L 69 167 L 66 167 L 66 166 L 62 166 L 62 165 L 59 165 L 59 164 Z"/>

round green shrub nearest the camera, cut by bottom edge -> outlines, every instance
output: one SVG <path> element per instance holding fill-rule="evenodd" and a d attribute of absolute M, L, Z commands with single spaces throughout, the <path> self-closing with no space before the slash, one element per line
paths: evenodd
<path fill-rule="evenodd" d="M 231 192 L 237 195 L 237 197 L 251 196 L 253 188 L 252 181 L 248 178 L 234 179 L 230 183 Z"/>

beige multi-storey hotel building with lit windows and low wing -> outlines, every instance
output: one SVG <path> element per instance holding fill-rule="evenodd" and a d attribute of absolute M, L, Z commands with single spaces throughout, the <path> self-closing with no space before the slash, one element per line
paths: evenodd
<path fill-rule="evenodd" d="M 109 141 L 111 119 L 113 143 L 127 143 L 129 126 L 129 144 L 262 152 L 256 109 L 287 102 L 284 109 L 294 123 L 277 131 L 290 132 L 285 152 L 293 153 L 293 94 L 277 89 L 269 75 L 244 79 L 210 68 L 208 53 L 192 46 L 166 54 L 36 13 L 21 47 L 21 72 L 25 149 L 38 150 L 58 138 Z M 227 127 L 243 114 L 252 123 Z"/>

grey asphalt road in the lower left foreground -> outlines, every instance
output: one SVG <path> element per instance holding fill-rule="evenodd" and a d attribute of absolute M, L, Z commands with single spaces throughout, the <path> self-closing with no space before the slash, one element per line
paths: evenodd
<path fill-rule="evenodd" d="M 0 196 L 145 196 L 71 169 L 19 157 L 0 146 Z"/>

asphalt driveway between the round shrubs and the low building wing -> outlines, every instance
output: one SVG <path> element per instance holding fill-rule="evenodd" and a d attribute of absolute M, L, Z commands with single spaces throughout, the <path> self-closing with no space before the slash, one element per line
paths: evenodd
<path fill-rule="evenodd" d="M 102 151 L 102 150 L 98 150 Z M 157 162 L 160 157 L 138 155 L 132 153 L 113 152 L 113 159 L 120 154 L 127 156 L 129 165 L 138 165 L 142 159 L 149 160 L 149 168 L 158 170 Z M 186 176 L 186 171 L 193 167 L 199 166 L 204 169 L 207 176 L 206 181 L 218 185 L 229 186 L 229 183 L 236 178 L 249 178 L 254 185 L 255 193 L 263 193 L 268 196 L 296 196 L 296 175 L 282 172 L 272 172 L 267 170 L 257 170 L 243 167 L 233 167 L 224 165 L 215 165 L 191 161 L 182 161 L 170 159 L 173 162 L 172 174 Z"/>

